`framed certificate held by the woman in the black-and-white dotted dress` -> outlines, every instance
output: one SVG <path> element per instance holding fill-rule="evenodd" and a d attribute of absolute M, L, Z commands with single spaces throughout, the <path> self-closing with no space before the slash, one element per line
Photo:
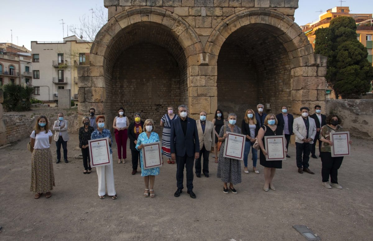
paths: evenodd
<path fill-rule="evenodd" d="M 223 157 L 244 160 L 245 135 L 227 132 Z"/>

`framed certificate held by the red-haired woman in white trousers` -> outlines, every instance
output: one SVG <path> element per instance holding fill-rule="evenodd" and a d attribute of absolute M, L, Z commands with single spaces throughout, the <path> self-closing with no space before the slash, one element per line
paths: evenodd
<path fill-rule="evenodd" d="M 105 166 L 112 163 L 108 138 L 89 140 L 88 148 L 90 148 L 91 167 Z"/>

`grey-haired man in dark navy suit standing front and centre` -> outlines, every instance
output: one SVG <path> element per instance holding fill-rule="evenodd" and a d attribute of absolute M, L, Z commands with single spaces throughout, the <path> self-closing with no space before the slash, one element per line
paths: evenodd
<path fill-rule="evenodd" d="M 186 187 L 191 198 L 196 198 L 193 192 L 193 166 L 194 159 L 200 156 L 200 141 L 198 139 L 197 123 L 194 119 L 187 117 L 188 107 L 178 107 L 180 118 L 171 122 L 171 159 L 176 160 L 176 183 L 178 190 L 174 196 L 179 197 L 182 193 L 184 181 L 184 166 L 186 168 Z"/>

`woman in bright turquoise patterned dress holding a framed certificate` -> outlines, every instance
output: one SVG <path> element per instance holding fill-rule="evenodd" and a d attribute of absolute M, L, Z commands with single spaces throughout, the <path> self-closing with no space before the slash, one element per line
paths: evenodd
<path fill-rule="evenodd" d="M 141 166 L 141 176 L 144 177 L 144 183 L 145 183 L 145 192 L 144 192 L 144 197 L 149 196 L 150 192 L 150 197 L 153 198 L 155 197 L 154 194 L 154 181 L 156 180 L 156 176 L 159 174 L 159 167 L 154 167 L 154 168 L 147 168 L 145 166 L 144 161 L 145 158 L 151 158 L 152 160 L 149 161 L 154 161 L 154 159 L 157 159 L 157 161 L 160 163 L 161 158 L 160 158 L 160 148 L 158 148 L 158 152 L 151 150 L 150 155 L 145 154 L 146 157 L 144 157 L 144 154 L 142 153 L 141 149 L 144 148 L 144 144 L 149 144 L 153 142 L 159 142 L 159 136 L 155 131 L 154 128 L 154 122 L 152 119 L 147 119 L 144 122 L 145 126 L 145 132 L 142 132 L 139 137 L 137 138 L 137 144 L 136 144 L 136 149 L 140 151 L 140 166 Z M 160 145 L 158 145 L 160 146 Z M 153 149 L 153 147 L 151 147 Z M 156 149 L 157 147 L 154 147 Z M 147 161 L 148 162 L 148 161 Z M 155 166 L 157 163 L 154 163 Z M 149 190 L 149 181 L 150 181 L 150 190 Z"/>

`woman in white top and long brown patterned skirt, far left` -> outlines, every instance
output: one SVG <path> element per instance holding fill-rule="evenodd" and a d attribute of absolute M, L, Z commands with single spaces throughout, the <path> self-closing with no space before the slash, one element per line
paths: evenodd
<path fill-rule="evenodd" d="M 52 152 L 50 144 L 53 133 L 49 130 L 48 118 L 39 116 L 35 130 L 30 137 L 31 142 L 31 188 L 38 199 L 42 193 L 46 193 L 46 198 L 51 197 L 50 191 L 54 187 L 54 174 L 52 163 Z"/>

